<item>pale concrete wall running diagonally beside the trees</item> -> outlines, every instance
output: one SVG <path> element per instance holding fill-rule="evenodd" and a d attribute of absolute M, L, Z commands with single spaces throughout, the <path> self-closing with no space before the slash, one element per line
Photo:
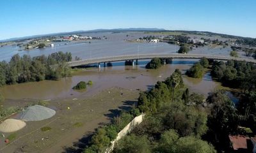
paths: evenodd
<path fill-rule="evenodd" d="M 122 129 L 118 135 L 116 136 L 116 139 L 113 140 L 111 142 L 110 147 L 108 147 L 108 149 L 106 149 L 105 153 L 110 153 L 113 151 L 115 144 L 118 142 L 118 140 L 120 140 L 123 136 L 127 135 L 128 133 L 131 132 L 131 130 L 137 126 L 138 124 L 140 124 L 143 120 L 143 117 L 145 116 L 144 113 L 141 113 L 141 115 L 139 115 L 138 117 L 135 117 L 131 122 L 129 122 L 129 124 L 127 124 L 127 126 L 125 126 L 124 129 Z"/>

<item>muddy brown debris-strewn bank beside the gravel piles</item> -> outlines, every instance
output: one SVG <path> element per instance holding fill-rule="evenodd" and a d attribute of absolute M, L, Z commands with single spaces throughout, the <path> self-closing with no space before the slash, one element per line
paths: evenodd
<path fill-rule="evenodd" d="M 0 152 L 63 152 L 72 149 L 73 143 L 83 135 L 108 123 L 120 110 L 131 108 L 138 93 L 136 90 L 113 87 L 90 98 L 49 101 L 49 107 L 56 110 L 56 115 L 47 120 L 27 122 L 26 128 L 17 131 L 15 140 L 9 145 L 1 138 Z M 40 128 L 45 126 L 51 130 L 41 131 Z"/>

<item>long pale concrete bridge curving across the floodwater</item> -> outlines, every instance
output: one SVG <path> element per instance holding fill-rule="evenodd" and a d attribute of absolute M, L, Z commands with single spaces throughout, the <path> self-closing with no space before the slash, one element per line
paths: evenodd
<path fill-rule="evenodd" d="M 245 61 L 245 62 L 252 62 L 256 63 L 254 59 L 245 59 L 245 58 L 238 58 L 238 57 L 228 57 L 228 56 L 220 56 L 220 55 L 204 55 L 204 54 L 140 54 L 140 55 L 120 55 L 120 56 L 112 56 L 112 57 L 100 57 L 94 59 L 84 59 L 81 61 L 71 61 L 67 62 L 68 66 L 76 67 L 76 66 L 83 66 L 88 64 L 99 64 L 106 63 L 106 62 L 116 62 L 116 61 L 132 61 L 134 64 L 134 60 L 138 62 L 138 59 L 152 59 L 152 58 L 163 58 L 163 59 L 202 59 L 202 57 L 206 57 L 207 59 L 214 59 L 214 60 L 236 60 L 236 61 Z"/>

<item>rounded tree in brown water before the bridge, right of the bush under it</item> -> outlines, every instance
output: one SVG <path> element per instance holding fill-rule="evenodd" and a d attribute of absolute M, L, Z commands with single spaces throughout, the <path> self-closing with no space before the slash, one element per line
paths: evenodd
<path fill-rule="evenodd" d="M 200 62 L 196 62 L 196 64 L 189 68 L 186 75 L 193 78 L 202 78 L 204 76 L 204 71 L 204 67 L 200 64 Z"/>

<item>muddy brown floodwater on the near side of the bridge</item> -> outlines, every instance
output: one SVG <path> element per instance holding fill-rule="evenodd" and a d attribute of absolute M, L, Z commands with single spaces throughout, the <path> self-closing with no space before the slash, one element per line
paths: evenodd
<path fill-rule="evenodd" d="M 139 65 L 133 67 L 124 66 L 124 62 L 114 62 L 113 67 L 86 69 L 59 81 L 44 80 L 42 82 L 6 85 L 0 88 L 0 92 L 6 99 L 46 100 L 91 96 L 110 87 L 146 91 L 157 81 L 163 81 L 166 77 L 169 77 L 175 69 L 180 69 L 182 73 L 185 73 L 196 60 L 175 59 L 172 64 L 166 64 L 159 69 L 145 69 L 147 62 L 139 61 Z M 88 82 L 88 80 L 92 80 L 93 85 L 88 86 L 86 91 L 72 90 L 72 87 L 78 82 Z M 218 82 L 212 81 L 209 73 L 199 79 L 188 78 L 184 75 L 184 84 L 191 89 L 191 92 L 204 94 L 205 97 L 220 85 Z"/>

